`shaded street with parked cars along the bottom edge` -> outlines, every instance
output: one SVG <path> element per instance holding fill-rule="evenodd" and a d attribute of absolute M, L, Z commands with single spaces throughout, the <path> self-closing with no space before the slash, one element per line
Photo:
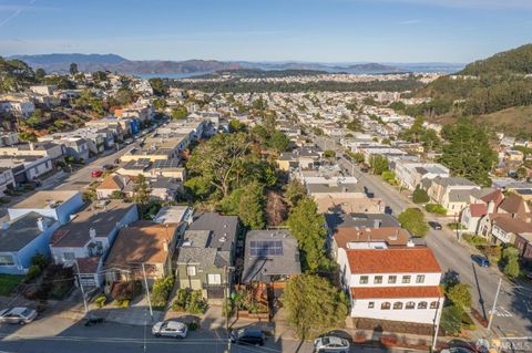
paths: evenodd
<path fill-rule="evenodd" d="M 185 340 L 153 338 L 150 328 L 102 323 L 86 328 L 66 319 L 48 318 L 20 328 L 0 325 L 1 353 L 222 353 L 227 343 L 225 332 L 200 330 Z M 313 352 L 311 342 L 268 338 L 259 346 L 232 345 L 233 353 Z M 380 349 L 352 347 L 350 352 L 385 352 Z M 397 351 L 400 352 L 400 351 Z"/>

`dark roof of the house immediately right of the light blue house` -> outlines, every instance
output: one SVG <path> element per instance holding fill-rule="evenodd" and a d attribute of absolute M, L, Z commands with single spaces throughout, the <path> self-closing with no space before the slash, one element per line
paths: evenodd
<path fill-rule="evenodd" d="M 108 237 L 132 208 L 136 205 L 120 200 L 110 200 L 103 206 L 100 201 L 86 205 L 70 224 L 53 232 L 50 245 L 57 248 L 83 247 L 91 239 L 91 229 L 96 237 Z"/>

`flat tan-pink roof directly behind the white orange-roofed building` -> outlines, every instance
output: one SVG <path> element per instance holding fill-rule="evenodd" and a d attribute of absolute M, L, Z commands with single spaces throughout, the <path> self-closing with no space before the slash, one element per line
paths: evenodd
<path fill-rule="evenodd" d="M 346 248 L 348 242 L 365 242 L 365 241 L 385 241 L 389 246 L 406 246 L 410 239 L 407 230 L 400 227 L 386 228 L 362 228 L 356 229 L 337 228 L 335 231 L 335 241 L 338 248 Z"/>

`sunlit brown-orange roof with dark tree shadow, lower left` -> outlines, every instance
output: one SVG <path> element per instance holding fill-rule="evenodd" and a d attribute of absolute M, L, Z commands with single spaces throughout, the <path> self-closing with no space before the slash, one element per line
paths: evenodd
<path fill-rule="evenodd" d="M 123 228 L 109 252 L 105 268 L 164 263 L 168 256 L 165 243 L 172 242 L 178 226 L 178 224 L 160 225 L 152 221 L 136 221 Z"/>

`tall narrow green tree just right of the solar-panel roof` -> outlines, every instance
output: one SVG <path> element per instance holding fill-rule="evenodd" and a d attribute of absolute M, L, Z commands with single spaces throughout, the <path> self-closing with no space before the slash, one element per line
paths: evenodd
<path fill-rule="evenodd" d="M 325 217 L 318 214 L 314 199 L 300 199 L 290 210 L 286 224 L 297 239 L 304 268 L 316 271 L 327 267 Z"/>

